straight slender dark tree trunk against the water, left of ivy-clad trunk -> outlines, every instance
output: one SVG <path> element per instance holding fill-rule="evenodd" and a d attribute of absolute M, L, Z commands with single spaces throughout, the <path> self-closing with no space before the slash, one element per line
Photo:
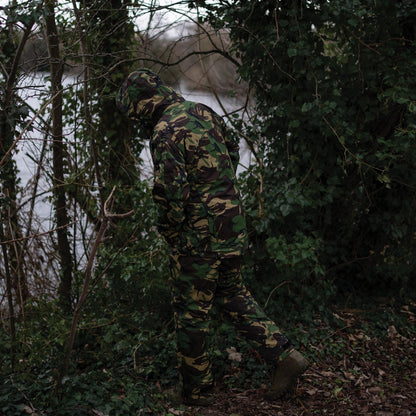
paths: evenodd
<path fill-rule="evenodd" d="M 64 143 L 62 129 L 62 72 L 63 64 L 59 48 L 58 29 L 55 21 L 54 0 L 46 1 L 46 33 L 48 38 L 49 62 L 51 70 L 52 100 L 52 155 L 54 203 L 57 225 L 58 252 L 61 264 L 59 298 L 66 312 L 71 310 L 73 261 L 68 241 L 69 224 L 64 186 Z"/>

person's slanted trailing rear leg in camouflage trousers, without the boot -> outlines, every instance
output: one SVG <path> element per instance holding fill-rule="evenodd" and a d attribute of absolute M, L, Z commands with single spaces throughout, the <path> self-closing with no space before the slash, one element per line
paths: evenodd
<path fill-rule="evenodd" d="M 257 346 L 264 360 L 277 361 L 292 345 L 243 285 L 240 270 L 239 257 L 221 261 L 216 302 L 235 327 Z"/>

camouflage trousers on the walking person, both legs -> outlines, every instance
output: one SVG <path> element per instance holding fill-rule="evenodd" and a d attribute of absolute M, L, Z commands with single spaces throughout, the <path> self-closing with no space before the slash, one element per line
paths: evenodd
<path fill-rule="evenodd" d="M 173 310 L 178 366 L 184 397 L 213 385 L 207 355 L 209 312 L 214 302 L 268 362 L 277 362 L 291 344 L 245 288 L 241 258 L 171 255 Z"/>

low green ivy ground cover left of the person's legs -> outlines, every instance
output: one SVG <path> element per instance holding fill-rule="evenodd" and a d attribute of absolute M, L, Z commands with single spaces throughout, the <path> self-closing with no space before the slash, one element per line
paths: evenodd
<path fill-rule="evenodd" d="M 27 314 L 17 330 L 14 367 L 9 358 L 15 346 L 5 332 L 0 334 L 1 414 L 23 415 L 26 409 L 68 416 L 93 409 L 150 414 L 157 411 L 156 382 L 172 384 L 177 378 L 172 328 L 139 308 L 120 315 L 97 304 L 80 322 L 72 365 L 58 384 L 70 322 L 46 299 L 28 305 Z"/>

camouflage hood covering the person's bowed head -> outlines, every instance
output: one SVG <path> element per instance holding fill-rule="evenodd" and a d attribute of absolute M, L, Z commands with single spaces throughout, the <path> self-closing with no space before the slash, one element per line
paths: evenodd
<path fill-rule="evenodd" d="M 184 98 L 149 69 L 132 72 L 116 95 L 119 110 L 144 126 L 154 126 L 166 107 Z"/>

